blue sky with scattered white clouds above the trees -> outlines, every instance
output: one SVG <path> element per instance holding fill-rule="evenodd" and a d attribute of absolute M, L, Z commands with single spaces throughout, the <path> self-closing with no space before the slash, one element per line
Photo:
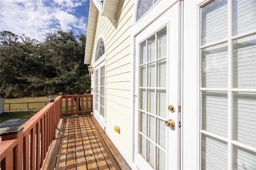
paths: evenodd
<path fill-rule="evenodd" d="M 89 0 L 0 0 L 0 32 L 43 40 L 58 26 L 87 33 Z"/>

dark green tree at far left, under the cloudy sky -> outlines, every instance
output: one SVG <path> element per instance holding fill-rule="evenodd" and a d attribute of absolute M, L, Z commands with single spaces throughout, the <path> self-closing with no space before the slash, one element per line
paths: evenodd
<path fill-rule="evenodd" d="M 0 32 L 1 97 L 31 96 L 40 91 L 35 77 L 40 74 L 40 42 L 12 32 Z"/>

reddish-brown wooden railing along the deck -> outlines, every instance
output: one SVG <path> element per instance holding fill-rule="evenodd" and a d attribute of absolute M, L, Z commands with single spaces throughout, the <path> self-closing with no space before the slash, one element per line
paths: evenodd
<path fill-rule="evenodd" d="M 62 103 L 65 105 L 63 106 Z M 39 170 L 44 167 L 44 160 L 52 140 L 55 139 L 55 126 L 62 116 L 90 112 L 92 112 L 92 95 L 58 96 L 31 117 L 24 129 L 16 134 L 2 135 L 1 170 L 20 170 L 21 167 L 24 170 Z"/>

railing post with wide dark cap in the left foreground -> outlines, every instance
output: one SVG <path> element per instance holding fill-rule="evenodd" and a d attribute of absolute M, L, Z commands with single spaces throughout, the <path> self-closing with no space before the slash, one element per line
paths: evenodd
<path fill-rule="evenodd" d="M 18 144 L 14 148 L 14 170 L 19 170 L 23 163 L 23 129 L 26 121 L 28 119 L 10 119 L 0 124 L 2 141 L 18 139 Z"/>

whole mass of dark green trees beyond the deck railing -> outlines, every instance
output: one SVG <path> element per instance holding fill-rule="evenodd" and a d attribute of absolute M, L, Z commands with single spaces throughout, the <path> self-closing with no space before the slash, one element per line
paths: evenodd
<path fill-rule="evenodd" d="M 0 32 L 0 97 L 84 94 L 90 88 L 85 45 L 84 34 L 61 29 L 43 41 Z"/>

